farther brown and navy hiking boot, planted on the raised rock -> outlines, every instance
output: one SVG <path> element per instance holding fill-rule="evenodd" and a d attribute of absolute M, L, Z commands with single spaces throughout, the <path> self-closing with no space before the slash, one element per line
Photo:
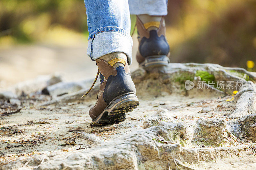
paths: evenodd
<path fill-rule="evenodd" d="M 160 22 L 151 21 L 143 24 L 137 16 L 136 26 L 139 41 L 136 59 L 140 66 L 148 68 L 168 65 L 170 63 L 168 57 L 170 47 L 165 38 L 164 17 Z M 158 29 L 148 31 L 147 29 L 151 26 L 155 26 Z"/>

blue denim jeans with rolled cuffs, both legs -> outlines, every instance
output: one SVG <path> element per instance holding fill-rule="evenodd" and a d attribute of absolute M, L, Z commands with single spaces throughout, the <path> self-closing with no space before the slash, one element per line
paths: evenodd
<path fill-rule="evenodd" d="M 84 0 L 84 3 L 89 31 L 87 55 L 93 61 L 102 55 L 123 52 L 131 64 L 130 13 L 167 15 L 166 0 Z"/>

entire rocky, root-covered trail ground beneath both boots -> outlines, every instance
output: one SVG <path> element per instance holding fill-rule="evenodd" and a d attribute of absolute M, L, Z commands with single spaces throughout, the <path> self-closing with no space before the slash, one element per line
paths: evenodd
<path fill-rule="evenodd" d="M 0 92 L 0 169 L 255 169 L 256 73 L 171 63 L 132 79 L 139 107 L 100 127 L 88 114 L 99 87 L 79 99 L 91 79 Z"/>

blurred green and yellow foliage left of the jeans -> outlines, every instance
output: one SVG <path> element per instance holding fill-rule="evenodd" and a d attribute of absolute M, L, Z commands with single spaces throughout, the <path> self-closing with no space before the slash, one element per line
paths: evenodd
<path fill-rule="evenodd" d="M 88 33 L 84 1 L 0 1 L 0 36 L 9 34 L 18 42 L 38 41 L 42 34 L 56 25 Z"/>

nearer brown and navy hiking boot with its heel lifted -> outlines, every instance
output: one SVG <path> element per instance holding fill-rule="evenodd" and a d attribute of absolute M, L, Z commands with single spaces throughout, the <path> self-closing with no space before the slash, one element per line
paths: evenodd
<path fill-rule="evenodd" d="M 123 63 L 124 67 L 112 67 L 118 62 Z M 89 111 L 92 125 L 124 121 L 125 112 L 131 112 L 139 106 L 127 59 L 115 58 L 109 62 L 97 59 L 96 63 L 100 74 L 100 91 L 96 104 Z"/>

